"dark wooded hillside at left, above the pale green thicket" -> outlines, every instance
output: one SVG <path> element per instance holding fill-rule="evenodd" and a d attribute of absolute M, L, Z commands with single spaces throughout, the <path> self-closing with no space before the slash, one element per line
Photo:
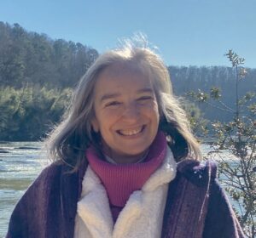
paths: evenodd
<path fill-rule="evenodd" d="M 73 88 L 97 57 L 96 49 L 79 42 L 52 40 L 0 21 L 1 87 Z"/>

